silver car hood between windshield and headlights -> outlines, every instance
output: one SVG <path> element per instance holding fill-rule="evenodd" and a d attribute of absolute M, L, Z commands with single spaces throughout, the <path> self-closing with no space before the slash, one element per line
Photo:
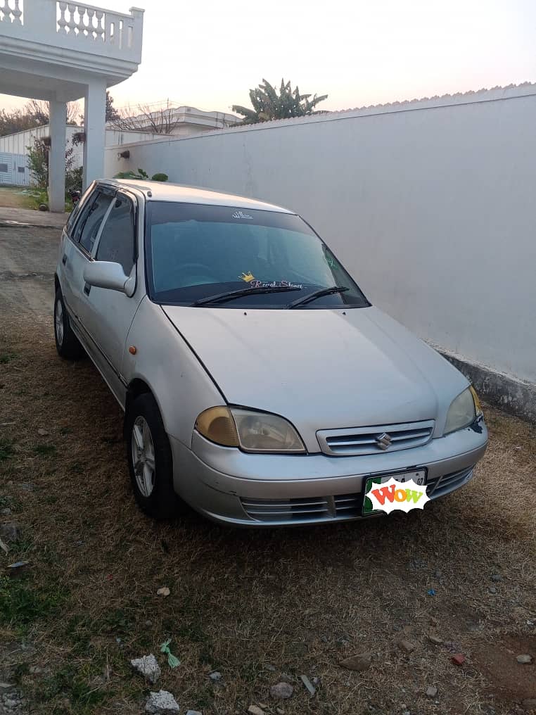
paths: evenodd
<path fill-rule="evenodd" d="M 376 307 L 162 307 L 229 404 L 290 420 L 309 451 L 317 430 L 436 420 L 466 378 Z"/>

